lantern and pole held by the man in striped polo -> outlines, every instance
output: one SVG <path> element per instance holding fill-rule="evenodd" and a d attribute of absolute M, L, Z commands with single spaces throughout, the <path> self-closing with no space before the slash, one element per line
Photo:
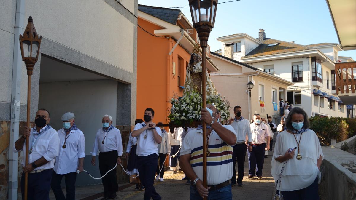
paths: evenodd
<path fill-rule="evenodd" d="M 200 47 L 202 50 L 202 85 L 206 85 L 206 47 L 211 29 L 214 28 L 216 7 L 218 0 L 189 0 L 190 14 L 192 14 L 193 26 L 198 32 Z M 205 87 L 203 87 L 205 88 Z M 206 108 L 206 89 L 202 92 L 203 107 Z M 206 188 L 206 123 L 203 121 L 203 186 Z M 210 154 L 210 153 L 209 153 Z M 206 199 L 206 197 L 204 198 Z"/>

